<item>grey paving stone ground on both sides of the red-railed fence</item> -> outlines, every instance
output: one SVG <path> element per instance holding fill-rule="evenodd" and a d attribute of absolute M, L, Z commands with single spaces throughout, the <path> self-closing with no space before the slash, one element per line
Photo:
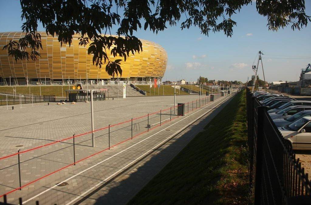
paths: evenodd
<path fill-rule="evenodd" d="M 198 96 L 178 96 L 176 101 L 188 102 L 197 98 Z M 227 98 L 228 97 L 223 97 L 218 100 L 226 101 Z M 203 105 L 203 102 L 201 103 Z M 166 137 L 172 135 L 174 132 L 191 122 L 193 119 L 197 118 L 207 109 L 211 109 L 216 104 L 218 104 L 218 102 L 213 104 L 209 103 L 206 108 L 198 108 L 197 110 L 194 110 L 194 112 L 191 112 L 191 106 L 190 112 L 186 116 L 179 117 L 171 122 L 168 120 L 168 122 L 162 126 L 143 133 L 132 140 L 128 140 L 106 151 L 103 150 L 108 147 L 107 129 L 95 133 L 95 147 L 91 147 L 91 134 L 77 137 L 75 139 L 76 161 L 96 152 L 103 152 L 81 161 L 75 166 L 68 166 L 66 169 L 60 170 L 53 175 L 35 182 L 34 184 L 26 186 L 21 191 L 18 190 L 9 194 L 7 196 L 8 202 L 17 203 L 19 197 L 22 197 L 23 201 L 25 201 L 45 190 L 48 190 L 45 193 L 35 197 L 29 203 L 34 204 L 35 200 L 39 200 L 40 204 L 66 204 L 75 199 L 77 196 L 80 196 L 95 184 L 98 184 L 103 179 L 106 179 L 107 176 L 110 176 L 117 170 L 120 170 L 124 167 L 124 165 L 132 162 L 138 156 L 142 155 L 156 144 L 162 142 Z M 124 120 L 131 119 L 132 117 L 135 118 L 137 116 L 155 112 L 160 109 L 170 108 L 171 106 L 173 106 L 173 96 L 136 97 L 96 101 L 94 102 L 95 129 L 105 127 L 108 124 L 122 122 Z M 217 108 L 216 111 L 219 109 L 221 109 L 221 107 Z M 18 145 L 23 145 L 23 147 L 21 147 L 23 150 L 45 144 L 47 142 L 53 142 L 55 140 L 59 140 L 60 138 L 70 137 L 73 133 L 78 134 L 89 131 L 89 128 L 91 127 L 89 110 L 90 105 L 88 103 L 78 103 L 76 105 L 46 105 L 35 108 L 31 107 L 27 109 L 2 111 L 2 118 L 0 119 L 0 139 L 3 149 L 0 152 L 1 156 L 16 152 L 17 149 L 20 148 L 16 147 Z M 166 112 L 161 113 L 161 120 L 169 119 L 169 111 L 170 110 L 167 110 Z M 195 113 L 196 111 L 197 113 Z M 115 182 L 113 180 L 111 183 L 106 184 L 103 190 L 100 189 L 101 194 L 100 192 L 94 193 L 95 195 L 97 194 L 97 197 L 92 195 L 92 197 L 86 198 L 87 200 L 81 203 L 93 204 L 102 202 L 103 200 L 108 200 L 105 201 L 105 203 L 126 203 L 133 196 L 133 194 L 139 190 L 139 187 L 142 188 L 142 184 L 145 184 L 146 180 L 150 180 L 151 176 L 157 173 L 161 167 L 163 167 L 183 146 L 188 143 L 191 137 L 195 136 L 195 134 L 202 129 L 203 124 L 206 124 L 207 120 L 210 120 L 213 114 L 215 114 L 215 111 L 208 114 L 209 117 L 205 116 L 204 119 L 198 120 L 195 125 L 189 126 L 187 131 L 183 131 L 184 133 L 174 137 L 174 139 L 170 140 L 169 143 L 165 144 L 165 146 L 160 147 L 151 155 L 127 169 L 122 175 L 116 178 L 117 180 Z M 176 116 L 173 115 L 173 118 L 174 117 Z M 137 119 L 140 130 L 134 130 L 134 136 L 136 133 L 147 130 L 146 122 L 146 117 Z M 150 116 L 149 124 L 157 124 L 159 122 L 159 114 L 153 114 Z M 178 123 L 174 124 L 175 122 Z M 117 125 L 110 129 L 110 145 L 131 137 L 130 123 L 131 122 Z M 155 134 L 162 130 L 163 127 L 165 128 L 172 124 L 174 125 L 169 127 L 169 130 L 164 129 L 160 133 Z M 201 128 L 197 125 L 200 125 Z M 155 135 L 147 138 L 153 134 Z M 143 139 L 145 140 L 140 142 Z M 72 139 L 70 139 L 48 147 L 22 153 L 22 185 L 73 163 L 72 145 Z M 134 146 L 130 147 L 132 145 Z M 119 153 L 120 151 L 122 151 L 122 153 Z M 151 163 L 156 159 L 154 156 L 163 156 L 163 158 L 160 160 L 160 163 Z M 19 187 L 18 166 L 16 162 L 17 156 L 0 161 L 0 173 L 2 176 L 0 178 L 1 193 L 6 193 L 13 188 Z M 86 170 L 91 166 L 94 167 Z M 150 167 L 154 171 L 151 172 L 149 177 L 146 177 L 146 172 L 141 173 L 140 167 L 144 167 L 144 169 Z M 80 173 L 82 170 L 86 171 Z M 124 190 L 127 190 L 128 187 L 131 187 L 132 182 L 128 179 L 132 179 L 133 174 L 137 175 L 137 177 L 141 179 L 138 180 L 140 181 L 140 186 L 135 186 L 136 188 L 131 189 L 131 192 L 124 192 Z M 68 177 L 72 177 L 66 181 L 68 185 L 63 187 L 54 186 L 58 182 L 68 179 Z M 50 187 L 52 187 L 52 189 L 49 189 Z M 115 194 L 111 194 L 115 193 L 114 190 L 116 189 L 120 190 L 119 193 L 121 195 L 126 194 L 127 198 L 120 200 L 120 197 L 116 197 Z M 111 197 L 107 197 L 109 194 L 102 195 L 102 193 L 109 193 Z M 81 198 L 79 198 L 79 200 L 80 199 Z"/>

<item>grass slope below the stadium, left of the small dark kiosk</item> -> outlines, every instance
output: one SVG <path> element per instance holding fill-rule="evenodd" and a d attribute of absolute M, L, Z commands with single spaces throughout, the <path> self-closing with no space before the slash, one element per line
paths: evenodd
<path fill-rule="evenodd" d="M 0 86 L 0 92 L 13 93 L 13 88 L 16 88 L 16 93 L 29 95 L 30 89 L 30 94 L 40 95 L 40 87 L 41 95 L 66 96 L 65 90 L 68 90 L 68 85 L 64 85 L 62 95 L 62 86 Z M 70 89 L 72 89 L 72 86 L 70 86 Z"/>

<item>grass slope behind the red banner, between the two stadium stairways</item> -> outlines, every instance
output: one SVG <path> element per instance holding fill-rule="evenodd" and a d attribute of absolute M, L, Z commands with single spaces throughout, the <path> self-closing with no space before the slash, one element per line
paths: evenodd
<path fill-rule="evenodd" d="M 143 91 L 146 91 L 146 96 L 153 96 L 153 95 L 174 95 L 174 88 L 169 85 L 164 85 L 164 90 L 163 90 L 163 85 L 160 86 L 160 88 L 154 88 L 153 86 L 150 88 L 150 85 L 135 85 L 138 88 L 142 89 Z M 149 92 L 150 91 L 150 92 Z M 180 91 L 179 89 L 176 88 L 177 95 L 189 95 L 189 93 Z"/>

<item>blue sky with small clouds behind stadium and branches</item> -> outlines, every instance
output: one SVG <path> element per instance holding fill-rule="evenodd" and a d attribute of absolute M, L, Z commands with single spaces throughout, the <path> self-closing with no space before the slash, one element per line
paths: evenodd
<path fill-rule="evenodd" d="M 306 13 L 311 16 L 311 1 L 305 3 Z M 20 2 L 0 0 L 0 4 L 0 32 L 21 30 Z M 251 68 L 259 50 L 266 54 L 263 66 L 268 82 L 299 80 L 300 69 L 311 63 L 311 22 L 300 31 L 292 31 L 290 27 L 269 31 L 267 19 L 257 13 L 255 4 L 243 7 L 232 19 L 237 26 L 231 38 L 223 33 L 210 33 L 207 37 L 195 27 L 181 30 L 181 22 L 157 35 L 144 30 L 133 35 L 156 42 L 167 51 L 165 80 L 178 77 L 189 81 L 201 75 L 208 79 L 245 82 L 253 74 Z M 44 29 L 40 26 L 38 30 Z M 262 70 L 258 73 L 263 79 Z"/>

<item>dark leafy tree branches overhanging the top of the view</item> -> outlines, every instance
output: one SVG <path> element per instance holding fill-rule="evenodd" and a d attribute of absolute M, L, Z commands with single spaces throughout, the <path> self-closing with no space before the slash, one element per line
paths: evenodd
<path fill-rule="evenodd" d="M 57 36 L 61 44 L 71 44 L 72 35 L 79 34 L 80 45 L 89 45 L 93 64 L 106 63 L 109 75 L 122 75 L 120 61 L 110 61 L 109 55 L 126 58 L 142 51 L 142 42 L 133 31 L 150 29 L 154 33 L 167 26 L 181 29 L 198 26 L 201 33 L 224 32 L 232 36 L 237 23 L 231 18 L 252 0 L 20 0 L 26 36 L 11 40 L 3 49 L 17 60 L 36 60 L 42 49 L 37 33 L 41 23 L 46 33 Z M 267 17 L 269 30 L 291 26 L 300 30 L 310 16 L 305 13 L 304 0 L 257 0 L 257 12 Z M 182 17 L 183 16 L 183 17 Z M 117 37 L 111 29 L 117 27 Z M 142 28 L 143 27 L 143 28 Z M 108 35 L 109 33 L 109 35 Z M 29 51 L 26 51 L 29 48 Z M 108 53 L 110 52 L 110 54 Z M 104 60 L 104 63 L 103 63 Z"/>

